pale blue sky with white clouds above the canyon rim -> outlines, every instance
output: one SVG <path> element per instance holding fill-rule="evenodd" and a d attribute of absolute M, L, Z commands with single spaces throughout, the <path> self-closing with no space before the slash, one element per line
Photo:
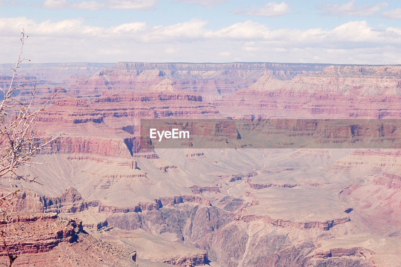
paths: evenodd
<path fill-rule="evenodd" d="M 401 64 L 401 1 L 0 0 L 0 63 Z"/>

